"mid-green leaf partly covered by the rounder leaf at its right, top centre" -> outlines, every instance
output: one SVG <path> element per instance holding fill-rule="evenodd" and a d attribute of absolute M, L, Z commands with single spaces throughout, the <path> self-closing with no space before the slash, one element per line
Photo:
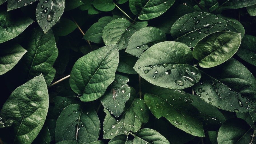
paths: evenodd
<path fill-rule="evenodd" d="M 104 27 L 114 19 L 118 19 L 120 16 L 114 15 L 113 17 L 102 17 L 99 22 L 94 23 L 83 36 L 83 39 L 92 41 L 94 43 L 103 43 L 102 34 Z"/>

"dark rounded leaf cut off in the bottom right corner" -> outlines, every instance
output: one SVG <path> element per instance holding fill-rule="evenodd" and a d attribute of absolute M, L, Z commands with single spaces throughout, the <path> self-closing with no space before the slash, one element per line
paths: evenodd
<path fill-rule="evenodd" d="M 253 129 L 243 119 L 228 119 L 219 129 L 218 143 L 248 143 L 251 141 L 251 134 L 253 134 Z"/>

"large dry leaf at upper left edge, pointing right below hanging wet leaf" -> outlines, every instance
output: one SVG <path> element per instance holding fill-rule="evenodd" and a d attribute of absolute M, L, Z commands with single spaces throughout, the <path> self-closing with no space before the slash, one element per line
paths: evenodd
<path fill-rule="evenodd" d="M 15 1 L 16 2 L 16 1 Z M 15 38 L 34 21 L 20 10 L 0 11 L 0 43 Z"/>

